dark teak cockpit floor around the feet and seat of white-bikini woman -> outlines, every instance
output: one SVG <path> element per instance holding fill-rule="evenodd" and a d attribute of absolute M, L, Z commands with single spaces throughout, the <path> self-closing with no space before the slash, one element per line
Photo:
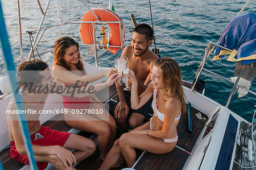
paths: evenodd
<path fill-rule="evenodd" d="M 179 140 L 177 142 L 177 146 L 191 152 L 193 147 L 195 146 L 196 140 L 198 139 L 201 128 L 204 127 L 205 123 L 201 120 L 197 119 L 196 113 L 199 111 L 192 107 L 192 124 L 194 127 L 193 132 L 191 134 L 187 131 L 187 116 L 182 115 L 180 118 L 180 122 L 177 125 L 177 133 L 179 136 Z M 205 114 L 202 114 L 202 117 L 208 117 Z M 137 153 L 138 154 L 138 153 Z M 138 155 L 139 156 L 139 155 Z M 182 169 L 185 162 L 188 159 L 189 154 L 180 150 L 179 148 L 174 148 L 171 152 L 167 154 L 151 154 L 150 152 L 145 152 L 138 163 L 135 165 L 134 169 Z M 98 169 L 102 163 L 100 160 L 100 152 L 96 150 L 96 152 L 80 161 L 79 164 L 76 165 L 77 169 Z M 126 167 L 126 163 L 124 162 L 119 168 L 112 169 L 122 169 Z"/>

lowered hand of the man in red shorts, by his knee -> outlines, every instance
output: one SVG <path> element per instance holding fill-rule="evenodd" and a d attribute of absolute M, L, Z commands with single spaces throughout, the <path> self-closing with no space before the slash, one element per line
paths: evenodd
<path fill-rule="evenodd" d="M 59 157 L 61 161 L 63 161 L 63 164 L 65 168 L 72 167 L 73 163 L 76 164 L 76 157 L 73 155 L 73 153 L 64 147 L 56 146 L 56 155 Z"/>

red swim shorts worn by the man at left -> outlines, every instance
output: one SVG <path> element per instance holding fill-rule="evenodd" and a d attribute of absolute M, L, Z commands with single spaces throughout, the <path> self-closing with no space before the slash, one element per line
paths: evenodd
<path fill-rule="evenodd" d="M 68 137 L 71 133 L 51 130 L 49 127 L 41 126 L 40 130 L 34 135 L 31 135 L 31 143 L 39 146 L 53 146 L 59 145 L 61 147 L 67 142 Z M 20 155 L 16 150 L 15 142 L 11 142 L 10 155 L 13 159 L 17 160 L 19 163 L 30 165 L 27 155 Z M 38 169 L 46 169 L 48 163 L 37 162 Z"/>

